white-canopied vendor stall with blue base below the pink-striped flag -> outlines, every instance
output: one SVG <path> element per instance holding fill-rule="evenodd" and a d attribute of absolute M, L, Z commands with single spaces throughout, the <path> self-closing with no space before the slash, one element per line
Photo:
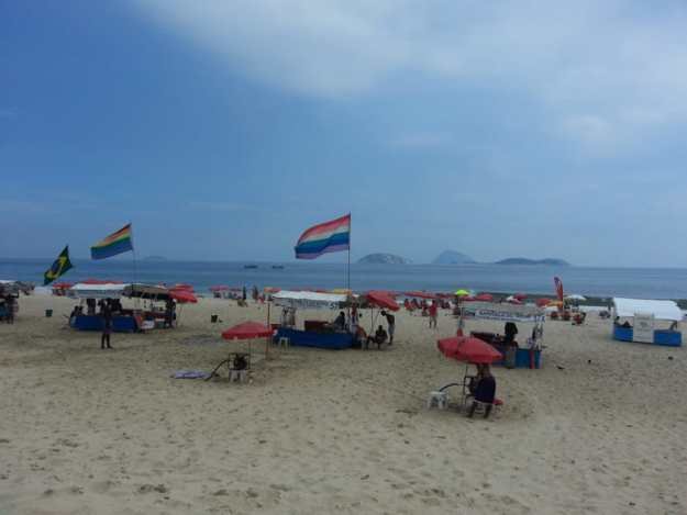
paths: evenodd
<path fill-rule="evenodd" d="M 353 346 L 355 335 L 344 328 L 320 320 L 303 321 L 303 328 L 296 327 L 298 310 L 341 310 L 350 298 L 343 293 L 319 293 L 313 291 L 281 290 L 272 294 L 272 303 L 286 310 L 290 322 L 280 324 L 275 342 L 288 342 L 299 347 L 318 347 L 323 349 L 346 349 Z M 281 339 L 286 338 L 286 339 Z"/>

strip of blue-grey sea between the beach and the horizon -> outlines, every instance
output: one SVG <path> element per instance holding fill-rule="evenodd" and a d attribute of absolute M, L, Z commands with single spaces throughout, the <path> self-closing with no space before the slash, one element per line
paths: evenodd
<path fill-rule="evenodd" d="M 43 272 L 51 265 L 42 259 L 0 259 L 0 279 L 43 283 Z M 88 278 L 134 280 L 131 260 L 74 260 L 75 268 L 63 279 L 76 282 Z M 138 282 L 168 284 L 185 282 L 203 293 L 213 284 L 248 288 L 345 288 L 346 265 L 318 261 L 257 262 L 218 261 L 138 261 Z M 565 291 L 594 296 L 642 299 L 687 299 L 687 269 L 677 268 L 592 268 L 503 265 L 352 265 L 351 287 L 356 291 L 428 290 L 455 291 L 458 288 L 491 292 L 524 292 L 553 295 L 554 276 L 561 277 Z"/>

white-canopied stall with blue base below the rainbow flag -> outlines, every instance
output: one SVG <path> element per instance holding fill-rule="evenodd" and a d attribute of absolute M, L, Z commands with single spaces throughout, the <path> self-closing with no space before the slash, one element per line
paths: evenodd
<path fill-rule="evenodd" d="M 98 314 L 98 301 L 119 301 L 126 284 L 80 282 L 71 287 L 73 295 L 79 299 L 79 305 L 69 316 L 69 326 L 77 331 L 102 331 L 103 318 Z M 115 311 L 112 314 L 112 331 L 132 333 L 138 329 L 140 320 L 129 311 Z"/>

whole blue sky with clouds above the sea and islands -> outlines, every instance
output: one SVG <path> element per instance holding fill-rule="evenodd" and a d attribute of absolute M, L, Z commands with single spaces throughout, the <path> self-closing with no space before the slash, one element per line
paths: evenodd
<path fill-rule="evenodd" d="M 0 0 L 0 256 L 687 266 L 687 7 Z M 322 258 L 344 259 L 343 255 Z"/>

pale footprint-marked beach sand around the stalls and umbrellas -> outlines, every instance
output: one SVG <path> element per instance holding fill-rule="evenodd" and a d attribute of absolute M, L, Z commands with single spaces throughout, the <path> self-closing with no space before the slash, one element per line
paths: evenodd
<path fill-rule="evenodd" d="M 595 314 L 546 322 L 541 370 L 496 368 L 485 421 L 424 407 L 463 374 L 435 347 L 448 312 L 439 331 L 399 313 L 384 351 L 273 348 L 235 384 L 170 374 L 245 348 L 220 332 L 265 306 L 204 299 L 107 351 L 67 327 L 74 304 L 22 296 L 0 324 L 2 514 L 687 513 L 685 352 L 612 342 Z"/>

